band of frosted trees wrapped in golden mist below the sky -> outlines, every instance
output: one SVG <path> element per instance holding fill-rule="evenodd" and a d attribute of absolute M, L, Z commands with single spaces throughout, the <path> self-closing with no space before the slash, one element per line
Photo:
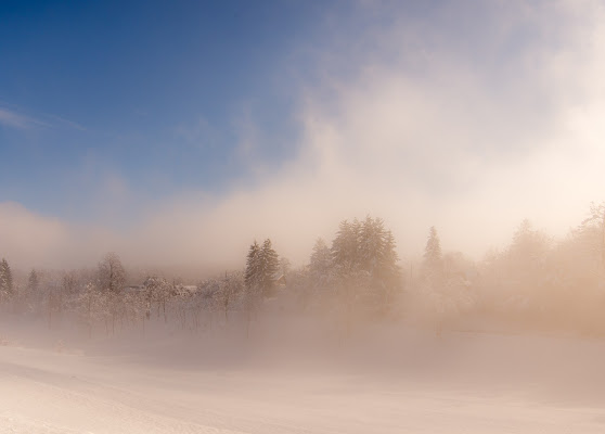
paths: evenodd
<path fill-rule="evenodd" d="M 0 261 L 0 314 L 75 327 L 89 336 L 149 324 L 202 332 L 271 312 L 324 318 L 343 335 L 355 324 L 400 320 L 442 329 L 489 318 L 507 327 L 605 333 L 605 203 L 555 240 L 523 220 L 509 245 L 472 260 L 428 228 L 422 256 L 401 259 L 384 220 L 343 220 L 293 267 L 270 239 L 254 241 L 242 268 L 184 282 L 128 270 L 116 253 L 95 267 L 14 271 Z M 252 328 L 252 329 L 250 329 Z"/>

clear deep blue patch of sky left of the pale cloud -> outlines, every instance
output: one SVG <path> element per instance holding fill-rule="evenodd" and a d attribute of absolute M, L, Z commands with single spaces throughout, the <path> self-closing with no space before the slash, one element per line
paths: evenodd
<path fill-rule="evenodd" d="M 0 124 L 0 197 L 90 219 L 106 174 L 137 195 L 215 192 L 247 175 L 249 125 L 267 164 L 292 156 L 289 81 L 335 5 L 2 2 L 0 110 L 22 122 Z"/>

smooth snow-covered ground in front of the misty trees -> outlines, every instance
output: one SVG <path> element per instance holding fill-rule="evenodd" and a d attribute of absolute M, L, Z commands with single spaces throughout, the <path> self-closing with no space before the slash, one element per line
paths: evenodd
<path fill-rule="evenodd" d="M 598 340 L 399 327 L 326 346 L 270 337 L 61 353 L 9 339 L 0 433 L 605 432 Z"/>

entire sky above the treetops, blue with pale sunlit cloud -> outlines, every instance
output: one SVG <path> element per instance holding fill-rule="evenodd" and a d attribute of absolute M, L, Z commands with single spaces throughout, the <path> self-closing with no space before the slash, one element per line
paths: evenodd
<path fill-rule="evenodd" d="M 4 1 L 0 41 L 17 264 L 304 264 L 366 214 L 480 257 L 603 200 L 601 0 Z"/>

